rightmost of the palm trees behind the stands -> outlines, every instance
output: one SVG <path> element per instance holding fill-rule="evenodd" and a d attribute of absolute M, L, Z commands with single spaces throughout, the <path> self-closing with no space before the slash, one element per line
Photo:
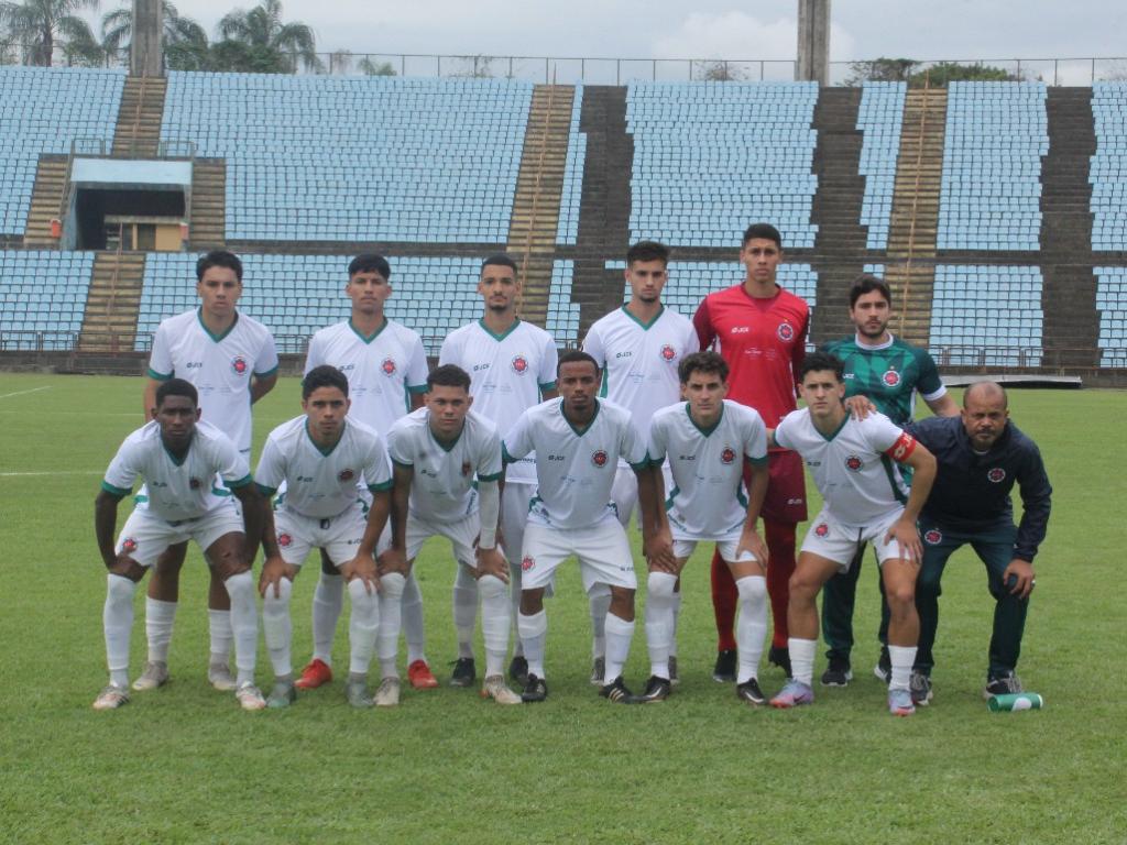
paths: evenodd
<path fill-rule="evenodd" d="M 313 29 L 301 23 L 284 24 L 281 0 L 263 0 L 250 11 L 229 12 L 219 21 L 218 33 L 223 43 L 212 45 L 213 51 L 225 62 L 294 73 L 300 61 L 307 70 L 322 70 Z"/>

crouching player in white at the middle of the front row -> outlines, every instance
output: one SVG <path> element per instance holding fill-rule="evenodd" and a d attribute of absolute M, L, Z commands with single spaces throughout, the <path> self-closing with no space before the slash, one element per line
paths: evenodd
<path fill-rule="evenodd" d="M 627 459 L 638 479 L 647 552 L 654 537 L 657 502 L 645 439 L 627 410 L 596 398 L 598 382 L 594 358 L 584 352 L 564 353 L 557 373 L 562 399 L 530 408 L 505 435 L 506 463 L 535 452 L 539 482 L 521 552 L 524 572 L 517 628 L 529 661 L 522 696 L 526 702 L 548 697 L 544 587 L 571 554 L 579 559 L 588 595 L 600 584 L 611 592 L 606 614 L 606 683 L 600 693 L 612 702 L 635 701 L 622 679 L 622 667 L 633 637 L 638 581 L 630 542 L 611 501 L 620 455 Z"/>

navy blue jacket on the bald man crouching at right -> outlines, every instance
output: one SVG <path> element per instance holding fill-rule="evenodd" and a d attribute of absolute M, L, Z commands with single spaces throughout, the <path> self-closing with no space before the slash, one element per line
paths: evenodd
<path fill-rule="evenodd" d="M 967 533 L 1012 524 L 1010 491 L 1017 482 L 1024 513 L 1013 557 L 1032 562 L 1045 540 L 1053 496 L 1037 444 L 1008 422 L 991 451 L 977 455 L 961 417 L 929 417 L 904 430 L 926 446 L 938 463 L 923 516 Z"/>

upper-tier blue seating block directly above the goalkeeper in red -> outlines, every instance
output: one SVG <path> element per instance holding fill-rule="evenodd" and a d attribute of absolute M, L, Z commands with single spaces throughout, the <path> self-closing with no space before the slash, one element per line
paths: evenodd
<path fill-rule="evenodd" d="M 731 247 L 752 221 L 814 246 L 815 82 L 636 82 L 630 239 Z"/>

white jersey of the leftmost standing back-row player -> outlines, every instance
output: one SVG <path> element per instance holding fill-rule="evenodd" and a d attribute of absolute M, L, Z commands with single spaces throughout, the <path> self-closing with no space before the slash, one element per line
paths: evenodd
<path fill-rule="evenodd" d="M 250 376 L 263 379 L 277 368 L 270 330 L 238 312 L 234 324 L 219 336 L 204 326 L 199 309 L 162 320 L 149 354 L 149 376 L 192 382 L 199 393 L 201 419 L 245 453 L 250 452 Z"/>

